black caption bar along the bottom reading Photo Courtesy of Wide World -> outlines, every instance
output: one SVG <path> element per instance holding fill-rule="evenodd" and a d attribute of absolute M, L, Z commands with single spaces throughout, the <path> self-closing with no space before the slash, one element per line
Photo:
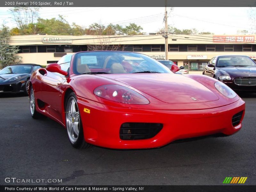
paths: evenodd
<path fill-rule="evenodd" d="M 43 185 L 19 185 L 10 186 L 2 185 L 0 186 L 1 192 L 255 192 L 256 187 L 253 185 L 214 185 L 214 186 L 202 186 L 202 185 L 164 185 L 164 186 L 146 186 L 146 185 L 132 185 L 132 186 L 122 186 L 122 185 L 100 185 L 100 186 L 73 186 L 73 185 L 53 185 L 53 186 L 43 186 Z"/>

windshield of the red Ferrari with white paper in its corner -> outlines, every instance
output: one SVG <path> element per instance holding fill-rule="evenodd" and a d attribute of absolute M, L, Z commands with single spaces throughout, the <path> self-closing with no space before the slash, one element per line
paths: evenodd
<path fill-rule="evenodd" d="M 74 72 L 76 74 L 172 73 L 167 67 L 146 55 L 121 51 L 77 53 Z"/>

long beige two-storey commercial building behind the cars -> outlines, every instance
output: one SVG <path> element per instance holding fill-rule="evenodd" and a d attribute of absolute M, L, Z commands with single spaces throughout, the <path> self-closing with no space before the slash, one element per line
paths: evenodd
<path fill-rule="evenodd" d="M 162 35 L 138 36 L 12 36 L 10 45 L 20 46 L 22 63 L 47 65 L 63 55 L 88 51 L 90 45 L 120 45 L 120 50 L 141 52 L 165 60 Z M 89 48 L 88 48 L 89 46 Z M 204 66 L 216 55 L 247 55 L 256 60 L 255 35 L 169 35 L 168 59 L 184 66 L 189 73 L 202 74 Z"/>

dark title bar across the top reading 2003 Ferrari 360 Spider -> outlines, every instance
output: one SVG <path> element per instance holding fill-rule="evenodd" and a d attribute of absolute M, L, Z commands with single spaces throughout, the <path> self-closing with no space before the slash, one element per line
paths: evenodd
<path fill-rule="evenodd" d="M 1 0 L 1 7 L 255 7 L 255 0 Z M 214 14 L 214 12 L 213 12 Z"/>

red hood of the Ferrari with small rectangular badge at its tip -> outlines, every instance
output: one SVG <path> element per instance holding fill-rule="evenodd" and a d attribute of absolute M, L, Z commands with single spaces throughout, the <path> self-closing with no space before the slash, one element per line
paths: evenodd
<path fill-rule="evenodd" d="M 198 103 L 219 97 L 204 85 L 177 74 L 108 74 L 100 75 L 130 85 L 166 103 Z M 193 100 L 191 97 L 196 98 Z"/>

